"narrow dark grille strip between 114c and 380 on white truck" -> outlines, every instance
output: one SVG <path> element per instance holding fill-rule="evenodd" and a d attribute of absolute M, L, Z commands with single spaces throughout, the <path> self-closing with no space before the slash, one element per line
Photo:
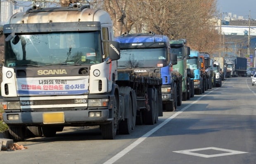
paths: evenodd
<path fill-rule="evenodd" d="M 74 104 L 75 99 L 43 99 L 33 100 L 34 105 L 55 105 L 55 104 Z"/>

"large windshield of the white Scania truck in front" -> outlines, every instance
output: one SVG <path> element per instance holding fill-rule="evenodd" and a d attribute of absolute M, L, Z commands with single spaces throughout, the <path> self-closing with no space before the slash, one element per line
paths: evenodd
<path fill-rule="evenodd" d="M 102 62 L 100 32 L 20 34 L 5 42 L 5 65 L 90 65 Z"/>

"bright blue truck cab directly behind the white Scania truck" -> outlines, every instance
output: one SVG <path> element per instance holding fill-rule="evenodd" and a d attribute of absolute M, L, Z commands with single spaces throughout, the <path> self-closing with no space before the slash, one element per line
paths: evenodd
<path fill-rule="evenodd" d="M 143 34 L 124 33 L 120 37 L 115 37 L 115 41 L 120 43 L 121 51 L 121 58 L 117 64 L 118 69 L 133 68 L 135 73 L 160 72 L 162 102 L 163 104 L 173 102 L 171 66 L 175 63 L 171 63 L 168 37 L 153 32 Z"/>

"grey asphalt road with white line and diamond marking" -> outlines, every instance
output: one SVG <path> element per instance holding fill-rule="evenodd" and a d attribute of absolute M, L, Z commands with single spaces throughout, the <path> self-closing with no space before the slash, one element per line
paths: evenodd
<path fill-rule="evenodd" d="M 65 128 L 18 142 L 26 150 L 1 151 L 0 163 L 255 164 L 255 100 L 250 77 L 229 78 L 130 135 L 102 140 L 98 127 Z"/>

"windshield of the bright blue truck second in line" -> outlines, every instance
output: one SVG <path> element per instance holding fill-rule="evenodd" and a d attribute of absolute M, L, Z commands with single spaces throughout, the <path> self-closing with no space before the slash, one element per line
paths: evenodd
<path fill-rule="evenodd" d="M 121 50 L 118 66 L 128 68 L 167 66 L 166 47 Z"/>

